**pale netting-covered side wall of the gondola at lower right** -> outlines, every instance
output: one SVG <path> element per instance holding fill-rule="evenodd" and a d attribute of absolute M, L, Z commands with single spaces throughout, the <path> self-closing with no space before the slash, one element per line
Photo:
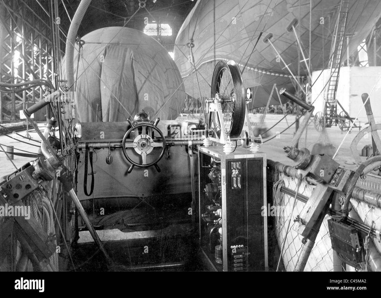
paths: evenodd
<path fill-rule="evenodd" d="M 294 222 L 293 219 L 303 209 L 304 203 L 297 200 L 295 203 L 295 208 L 293 214 L 291 215 L 291 210 L 294 204 L 294 197 L 288 194 L 284 194 L 280 191 L 280 187 L 284 186 L 293 191 L 297 190 L 298 180 L 293 177 L 288 177 L 283 173 L 278 173 L 278 181 L 274 184 L 273 197 L 274 197 L 274 207 L 277 212 L 275 213 L 275 234 L 277 236 L 278 245 L 280 250 L 282 249 L 282 244 L 285 241 L 285 247 L 283 249 L 282 258 L 283 263 L 287 271 L 293 271 L 298 260 L 299 254 L 302 248 L 303 237 L 293 230 Z M 363 189 L 373 191 L 376 193 L 381 192 L 381 177 L 369 174 L 363 179 L 359 179 L 357 182 L 358 187 Z M 299 187 L 299 194 L 306 197 L 310 197 L 315 186 L 302 182 Z M 373 223 L 373 228 L 381 229 L 381 210 L 379 208 L 372 207 L 364 202 L 358 202 L 354 199 L 351 200 L 352 208 L 357 212 L 359 218 L 367 226 L 371 226 Z M 286 237 L 287 224 L 290 220 L 290 228 Z M 326 215 L 322 226 L 320 227 L 319 234 L 316 238 L 314 248 L 312 249 L 311 255 L 307 261 L 304 271 L 333 271 L 333 250 L 331 247 L 331 239 L 328 232 L 327 220 L 330 219 L 329 215 Z M 381 243 L 377 239 L 373 239 L 378 251 L 381 251 Z M 351 266 L 343 263 L 343 271 L 353 271 Z"/>

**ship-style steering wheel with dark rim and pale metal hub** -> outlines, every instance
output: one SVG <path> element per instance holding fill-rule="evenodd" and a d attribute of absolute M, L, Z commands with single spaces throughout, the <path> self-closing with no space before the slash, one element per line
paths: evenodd
<path fill-rule="evenodd" d="M 130 133 L 132 131 L 138 131 L 137 128 L 139 128 L 139 127 L 142 128 L 140 135 L 136 135 L 132 142 L 126 143 L 126 140 L 127 140 L 128 136 L 130 135 Z M 157 131 L 158 134 L 160 135 L 161 142 L 155 142 L 152 139 L 152 136 L 150 136 L 147 133 L 147 128 L 151 128 L 152 130 Z M 155 147 L 161 147 L 160 155 L 153 162 L 147 163 L 147 155 L 150 154 Z M 126 151 L 127 148 L 133 148 L 136 151 L 136 153 L 140 154 L 142 157 L 142 162 L 141 163 L 134 162 L 131 159 L 131 157 L 128 156 L 127 151 Z M 128 173 L 131 173 L 134 166 L 140 167 L 140 168 L 146 168 L 146 167 L 150 167 L 152 165 L 156 168 L 156 170 L 158 172 L 160 172 L 160 168 L 158 167 L 157 162 L 160 159 L 162 159 L 162 157 L 164 155 L 165 138 L 164 138 L 162 131 L 160 129 L 158 129 L 155 125 L 152 125 L 150 123 L 140 123 L 140 124 L 135 125 L 135 126 L 131 125 L 131 128 L 129 130 L 127 130 L 126 134 L 123 137 L 122 150 L 123 150 L 123 154 L 124 154 L 125 158 L 128 160 L 129 163 L 131 163 L 131 167 L 127 171 Z"/>

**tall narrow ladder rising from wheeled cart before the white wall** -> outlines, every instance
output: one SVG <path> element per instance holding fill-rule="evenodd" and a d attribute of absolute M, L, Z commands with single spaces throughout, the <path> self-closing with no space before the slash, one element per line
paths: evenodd
<path fill-rule="evenodd" d="M 326 119 L 325 127 L 332 126 L 332 120 L 337 118 L 337 99 L 336 91 L 339 82 L 340 61 L 341 54 L 343 53 L 345 28 L 348 18 L 348 2 L 341 1 L 339 8 L 339 15 L 336 21 L 334 38 L 332 40 L 330 60 L 330 81 L 325 96 L 324 116 Z"/>

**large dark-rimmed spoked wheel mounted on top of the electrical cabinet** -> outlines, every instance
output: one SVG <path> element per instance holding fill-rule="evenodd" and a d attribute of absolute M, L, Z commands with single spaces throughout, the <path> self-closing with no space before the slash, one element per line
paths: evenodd
<path fill-rule="evenodd" d="M 221 129 L 231 137 L 238 137 L 245 120 L 245 88 L 239 66 L 233 60 L 217 63 L 213 72 L 211 98 L 215 98 L 216 94 L 222 100 L 224 127 L 221 127 L 216 112 L 209 114 L 209 127 L 213 128 L 218 137 L 221 136 Z"/>

